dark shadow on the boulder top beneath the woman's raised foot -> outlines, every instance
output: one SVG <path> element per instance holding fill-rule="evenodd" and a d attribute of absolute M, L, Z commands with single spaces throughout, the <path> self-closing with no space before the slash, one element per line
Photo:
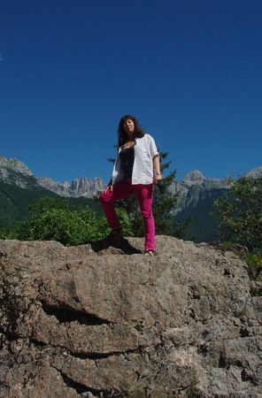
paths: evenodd
<path fill-rule="evenodd" d="M 142 250 L 130 245 L 129 241 L 125 238 L 105 238 L 101 241 L 89 241 L 91 248 L 99 254 L 105 249 L 114 248 L 120 250 L 120 254 L 142 254 Z"/>

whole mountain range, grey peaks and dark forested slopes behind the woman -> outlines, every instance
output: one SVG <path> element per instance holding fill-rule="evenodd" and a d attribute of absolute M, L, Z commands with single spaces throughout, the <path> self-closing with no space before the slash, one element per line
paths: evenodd
<path fill-rule="evenodd" d="M 262 166 L 251 170 L 246 176 L 257 177 L 260 173 L 262 173 Z M 78 198 L 93 203 L 92 198 L 104 188 L 104 181 L 99 177 L 93 180 L 81 177 L 72 182 L 63 183 L 48 177 L 36 179 L 27 165 L 16 158 L 2 156 L 0 157 L 0 204 L 4 216 L 0 213 L 0 226 L 12 226 L 12 219 L 17 221 L 24 216 L 27 213 L 28 203 L 41 195 L 58 195 L 72 198 L 72 200 Z M 180 224 L 187 218 L 193 218 L 186 232 L 186 239 L 194 241 L 218 239 L 213 202 L 227 192 L 228 188 L 230 184 L 226 179 L 205 178 L 197 170 L 189 172 L 183 180 L 173 182 L 170 189 L 178 194 L 177 205 L 174 209 L 175 221 Z M 19 208 L 19 198 L 24 198 L 22 210 Z M 3 219 L 9 220 L 7 225 Z"/>

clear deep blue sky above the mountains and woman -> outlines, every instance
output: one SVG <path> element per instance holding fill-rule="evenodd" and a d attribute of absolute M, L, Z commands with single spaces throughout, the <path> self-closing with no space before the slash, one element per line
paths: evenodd
<path fill-rule="evenodd" d="M 127 113 L 179 180 L 262 165 L 262 1 L 0 1 L 0 155 L 107 181 Z"/>

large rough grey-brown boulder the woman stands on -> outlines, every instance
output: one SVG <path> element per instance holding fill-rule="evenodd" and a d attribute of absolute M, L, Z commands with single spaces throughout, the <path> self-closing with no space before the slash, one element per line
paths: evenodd
<path fill-rule="evenodd" d="M 261 396 L 262 302 L 246 264 L 157 243 L 151 257 L 138 238 L 1 241 L 0 396 Z"/>

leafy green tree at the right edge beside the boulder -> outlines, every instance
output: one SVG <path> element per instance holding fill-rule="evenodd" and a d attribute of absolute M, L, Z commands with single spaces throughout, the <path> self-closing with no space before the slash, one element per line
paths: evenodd
<path fill-rule="evenodd" d="M 215 201 L 220 237 L 249 250 L 262 249 L 262 175 L 232 183 L 229 192 Z"/>

